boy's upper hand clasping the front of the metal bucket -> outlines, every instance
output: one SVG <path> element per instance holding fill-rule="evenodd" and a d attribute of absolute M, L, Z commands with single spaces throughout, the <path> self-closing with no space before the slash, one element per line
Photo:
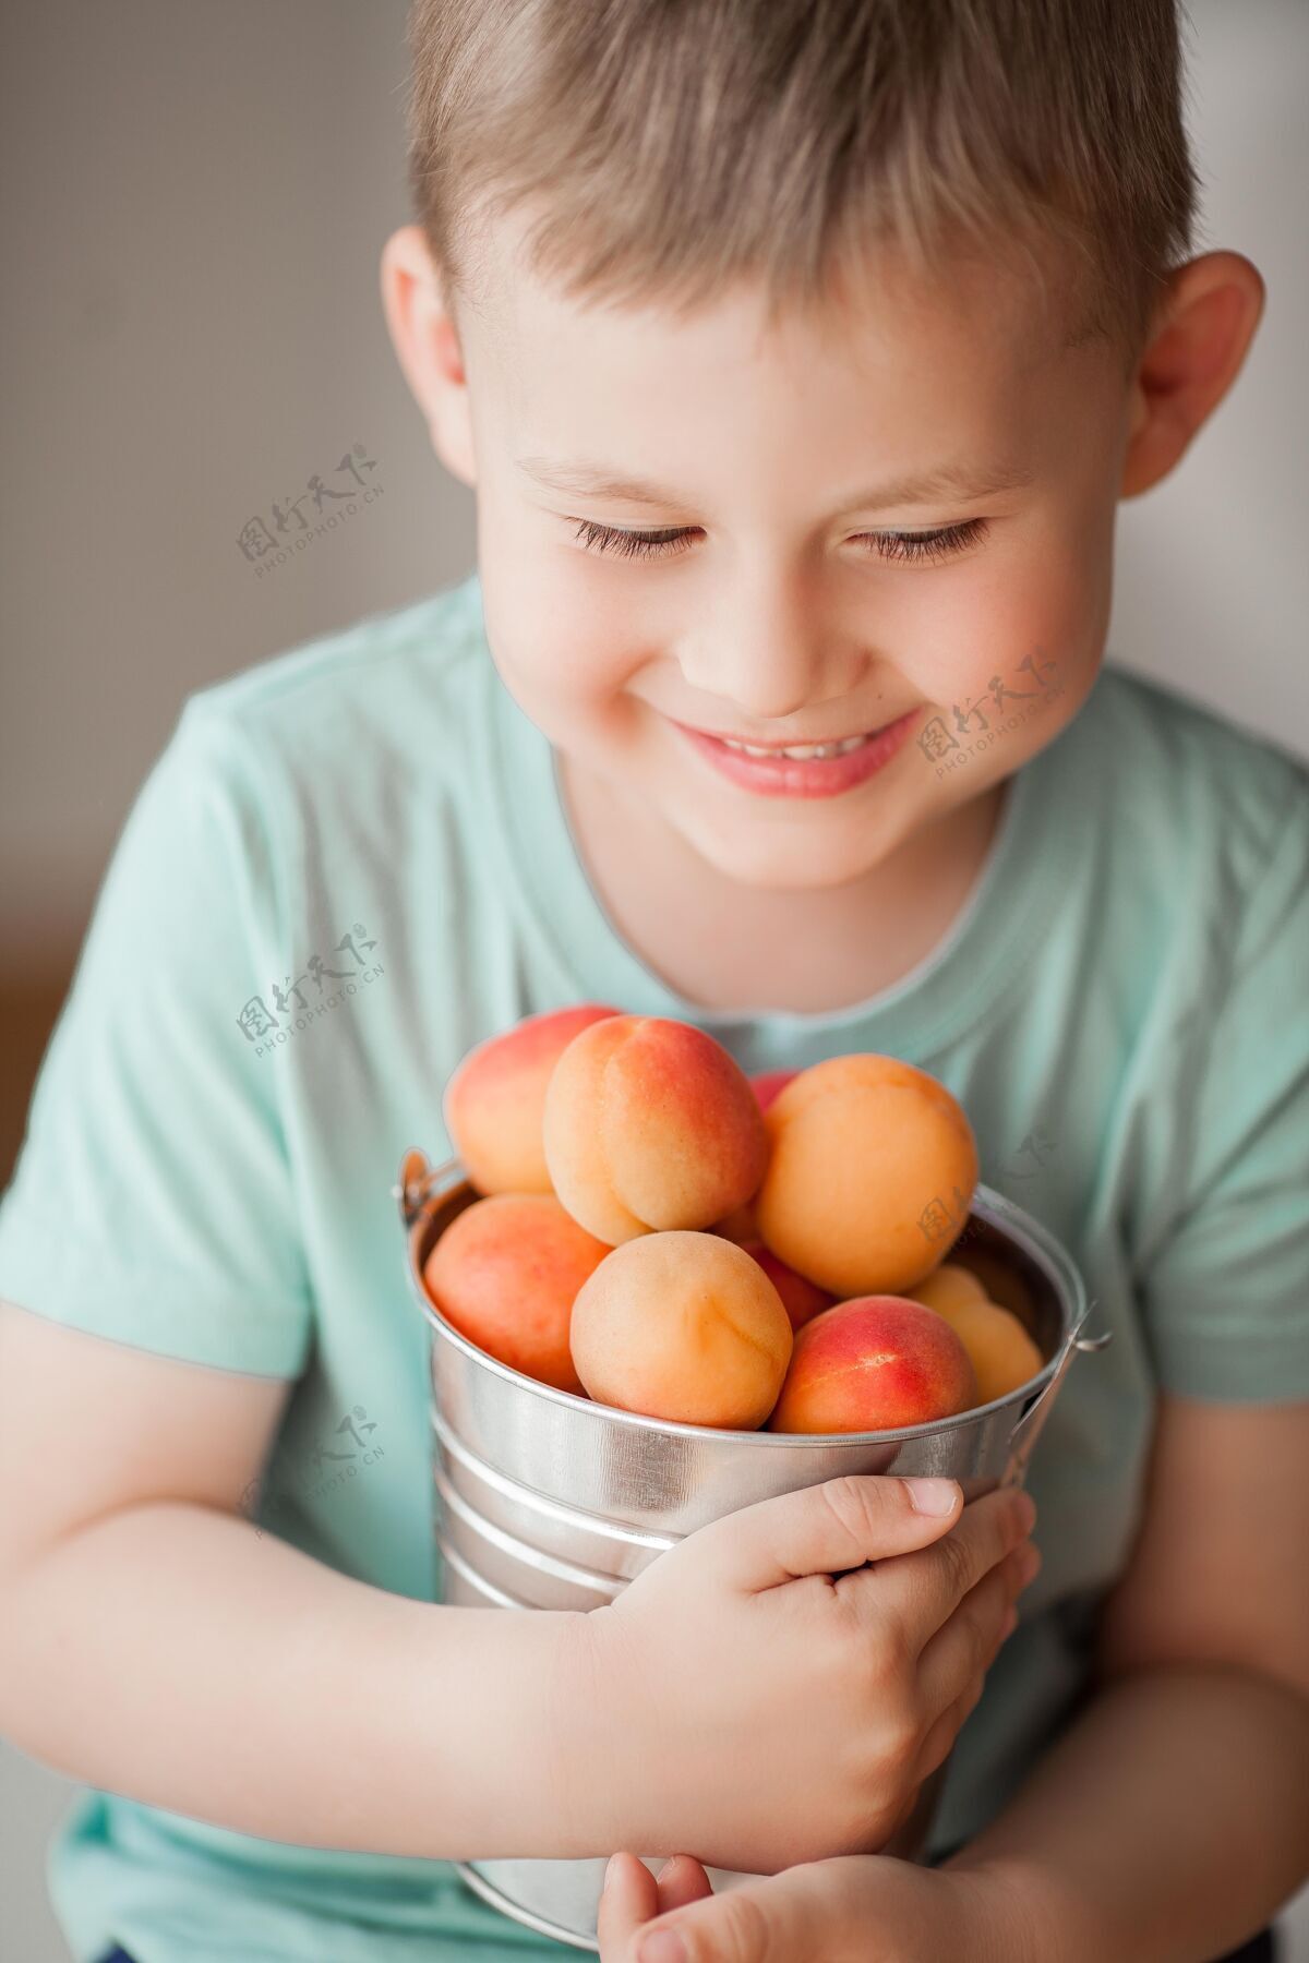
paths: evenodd
<path fill-rule="evenodd" d="M 913 1484 L 834 1478 L 740 1508 L 577 1618 L 561 1800 L 579 1839 L 756 1875 L 887 1843 L 1038 1565 L 1024 1494 L 962 1508 L 932 1480 L 950 1500 L 932 1515 Z"/>

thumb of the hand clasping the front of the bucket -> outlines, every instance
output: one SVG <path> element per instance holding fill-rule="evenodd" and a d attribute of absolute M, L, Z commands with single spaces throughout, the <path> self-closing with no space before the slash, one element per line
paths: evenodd
<path fill-rule="evenodd" d="M 918 1502 L 944 1498 L 944 1513 Z M 732 1588 L 758 1592 L 801 1574 L 840 1574 L 940 1541 L 962 1512 L 958 1480 L 852 1472 L 756 1500 L 708 1521 L 681 1543 Z M 685 1559 L 685 1557 L 683 1557 Z"/>

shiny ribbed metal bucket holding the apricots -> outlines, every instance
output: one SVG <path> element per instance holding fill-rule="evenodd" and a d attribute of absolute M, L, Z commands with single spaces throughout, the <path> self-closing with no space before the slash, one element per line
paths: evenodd
<path fill-rule="evenodd" d="M 948 1258 L 975 1264 L 987 1294 L 1028 1327 L 1046 1358 L 1030 1384 L 905 1431 L 811 1435 L 665 1423 L 538 1384 L 445 1321 L 422 1284 L 422 1268 L 438 1235 L 479 1197 L 457 1158 L 432 1168 L 422 1152 L 406 1152 L 393 1195 L 408 1243 L 410 1288 L 434 1331 L 436 1537 L 447 1604 L 597 1608 L 710 1519 L 846 1472 L 946 1474 L 960 1480 L 966 1502 L 995 1486 L 1021 1486 L 1073 1351 L 1109 1343 L 1109 1335 L 1081 1335 L 1089 1305 L 1060 1243 L 979 1186 Z M 922 1859 L 944 1773 L 946 1765 L 922 1782 L 885 1853 Z M 642 1859 L 657 1871 L 667 1855 Z M 577 1949 L 599 1949 L 602 1857 L 455 1867 L 483 1900 L 516 1922 Z M 714 1892 L 754 1879 L 732 1869 L 707 1873 Z"/>

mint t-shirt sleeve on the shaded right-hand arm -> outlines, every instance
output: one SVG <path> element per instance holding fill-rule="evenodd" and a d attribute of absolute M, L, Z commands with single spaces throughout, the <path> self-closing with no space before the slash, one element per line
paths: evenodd
<path fill-rule="evenodd" d="M 1181 1205 L 1138 1274 L 1158 1382 L 1191 1398 L 1309 1398 L 1309 773 L 1287 781 L 1230 985 L 1193 1019 Z"/>

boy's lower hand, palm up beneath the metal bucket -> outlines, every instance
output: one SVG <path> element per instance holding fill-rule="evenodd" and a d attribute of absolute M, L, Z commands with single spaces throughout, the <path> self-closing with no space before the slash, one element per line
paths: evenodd
<path fill-rule="evenodd" d="M 1058 1953 L 1036 1945 L 1030 1918 L 985 1869 L 881 1855 L 807 1861 L 714 1894 L 691 1855 L 675 1855 L 655 1881 L 634 1853 L 618 1853 L 597 1932 L 601 1963 L 1050 1963 Z"/>

